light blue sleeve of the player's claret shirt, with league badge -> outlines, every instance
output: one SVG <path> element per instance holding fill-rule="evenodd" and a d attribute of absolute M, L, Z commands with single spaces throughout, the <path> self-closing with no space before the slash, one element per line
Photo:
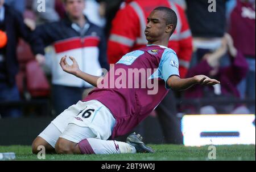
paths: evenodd
<path fill-rule="evenodd" d="M 172 76 L 176 75 L 180 77 L 179 74 L 179 61 L 177 55 L 174 51 L 164 52 L 161 62 L 160 62 L 160 74 L 162 79 L 167 83 L 167 80 Z M 168 88 L 168 87 L 167 87 Z"/>

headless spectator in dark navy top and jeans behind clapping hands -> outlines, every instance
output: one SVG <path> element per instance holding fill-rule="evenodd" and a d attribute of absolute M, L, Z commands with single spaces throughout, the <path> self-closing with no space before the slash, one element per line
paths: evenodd
<path fill-rule="evenodd" d="M 201 51 L 215 51 L 221 46 L 226 32 L 226 3 L 229 0 L 186 0 L 187 16 L 193 36 L 191 67 L 199 62 Z M 228 66 L 228 55 L 221 58 L 221 65 Z"/>

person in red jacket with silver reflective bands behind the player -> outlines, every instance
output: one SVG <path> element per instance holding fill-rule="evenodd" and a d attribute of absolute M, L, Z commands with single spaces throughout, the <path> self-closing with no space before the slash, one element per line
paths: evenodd
<path fill-rule="evenodd" d="M 108 60 L 110 64 L 117 63 L 129 51 L 137 50 L 147 44 L 144 36 L 147 18 L 150 12 L 158 6 L 172 8 L 177 14 L 177 29 L 168 42 L 168 47 L 176 51 L 179 58 L 180 77 L 187 74 L 192 56 L 192 36 L 182 7 L 171 0 L 134 0 L 126 1 L 125 5 L 115 15 L 108 41 Z M 162 103 L 156 108 L 162 124 L 163 134 L 167 143 L 181 143 L 182 135 L 178 119 L 174 92 L 169 92 Z M 177 139 L 179 138 L 179 139 Z"/>

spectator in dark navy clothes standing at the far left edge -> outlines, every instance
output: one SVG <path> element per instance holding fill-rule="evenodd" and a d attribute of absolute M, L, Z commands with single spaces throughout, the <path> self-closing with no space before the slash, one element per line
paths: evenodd
<path fill-rule="evenodd" d="M 4 2 L 0 0 L 0 30 L 6 33 L 7 44 L 0 48 L 0 101 L 18 101 L 19 92 L 15 83 L 18 73 L 16 46 L 19 37 L 30 43 L 32 41 L 30 29 L 24 24 L 22 14 L 3 5 Z M 2 117 L 19 117 L 20 111 L 1 107 L 0 114 Z"/>

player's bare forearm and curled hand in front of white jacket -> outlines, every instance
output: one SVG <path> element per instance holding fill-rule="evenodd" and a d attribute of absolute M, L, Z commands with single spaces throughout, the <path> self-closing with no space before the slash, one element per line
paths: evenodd
<path fill-rule="evenodd" d="M 89 75 L 89 74 L 86 74 L 85 72 L 82 72 L 79 69 L 79 65 L 77 64 L 75 58 L 73 58 L 73 57 L 69 57 L 71 59 L 71 61 L 73 62 L 73 64 L 68 65 L 66 58 L 67 58 L 67 55 L 65 55 L 60 60 L 60 66 L 63 69 L 63 71 L 68 72 L 69 74 L 75 75 L 78 78 L 85 80 L 89 84 L 92 84 L 94 87 L 97 87 L 97 81 L 98 81 L 98 79 L 100 79 L 100 77 Z"/>

